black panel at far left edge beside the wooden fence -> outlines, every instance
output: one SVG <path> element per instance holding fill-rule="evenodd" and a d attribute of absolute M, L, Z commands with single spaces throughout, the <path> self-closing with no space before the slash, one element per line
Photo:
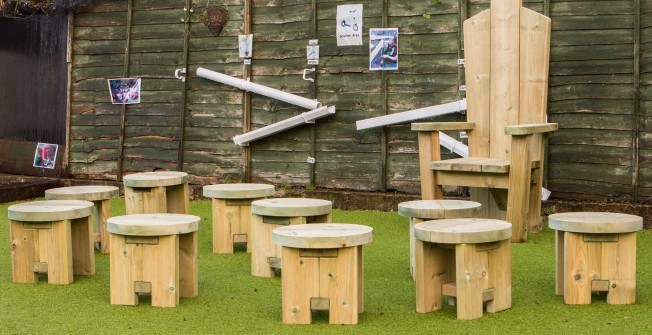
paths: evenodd
<path fill-rule="evenodd" d="M 66 15 L 0 18 L 0 139 L 66 143 L 67 31 Z"/>

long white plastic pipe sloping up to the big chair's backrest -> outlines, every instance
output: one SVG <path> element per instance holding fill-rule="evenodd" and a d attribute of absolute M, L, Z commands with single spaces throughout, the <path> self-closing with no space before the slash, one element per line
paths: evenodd
<path fill-rule="evenodd" d="M 437 106 L 414 109 L 407 112 L 372 117 L 356 121 L 358 130 L 388 126 L 391 124 L 403 123 L 418 119 L 425 119 L 433 116 L 440 116 L 451 113 L 458 113 L 466 110 L 466 99 L 449 102 Z"/>

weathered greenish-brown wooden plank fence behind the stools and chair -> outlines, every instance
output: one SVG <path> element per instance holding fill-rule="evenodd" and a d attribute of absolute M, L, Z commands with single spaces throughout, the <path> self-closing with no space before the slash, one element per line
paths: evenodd
<path fill-rule="evenodd" d="M 231 21 L 219 37 L 200 21 L 206 2 L 198 0 L 112 0 L 75 15 L 75 177 L 179 169 L 201 184 L 419 192 L 409 125 L 357 131 L 355 121 L 462 98 L 460 22 L 489 1 L 361 0 L 360 47 L 336 46 L 336 6 L 347 1 L 221 3 Z M 549 120 L 560 131 L 549 144 L 548 188 L 561 198 L 646 201 L 652 196 L 652 0 L 524 4 L 553 24 Z M 368 70 L 368 29 L 378 27 L 399 28 L 398 71 Z M 254 34 L 250 66 L 237 52 L 237 36 L 245 32 Z M 321 58 L 311 83 L 301 74 L 312 67 L 305 47 L 313 38 Z M 174 79 L 174 70 L 185 66 L 187 81 Z M 197 67 L 317 98 L 337 113 L 239 147 L 233 136 L 305 110 L 197 77 Z M 141 104 L 111 105 L 106 80 L 118 77 L 142 78 Z"/>

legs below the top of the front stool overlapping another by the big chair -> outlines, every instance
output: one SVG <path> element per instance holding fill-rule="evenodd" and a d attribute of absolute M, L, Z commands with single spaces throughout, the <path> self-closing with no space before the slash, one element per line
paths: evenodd
<path fill-rule="evenodd" d="M 419 313 L 441 309 L 443 295 L 456 305 L 458 320 L 482 317 L 483 303 L 489 313 L 511 307 L 509 236 L 487 243 L 431 243 L 417 239 L 415 261 Z"/>

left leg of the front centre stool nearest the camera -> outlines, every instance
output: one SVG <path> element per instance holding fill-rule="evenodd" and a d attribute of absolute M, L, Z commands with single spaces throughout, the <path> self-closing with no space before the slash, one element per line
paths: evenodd
<path fill-rule="evenodd" d="M 310 298 L 319 297 L 319 258 L 301 258 L 294 248 L 283 248 L 281 253 L 283 323 L 309 324 Z"/>

